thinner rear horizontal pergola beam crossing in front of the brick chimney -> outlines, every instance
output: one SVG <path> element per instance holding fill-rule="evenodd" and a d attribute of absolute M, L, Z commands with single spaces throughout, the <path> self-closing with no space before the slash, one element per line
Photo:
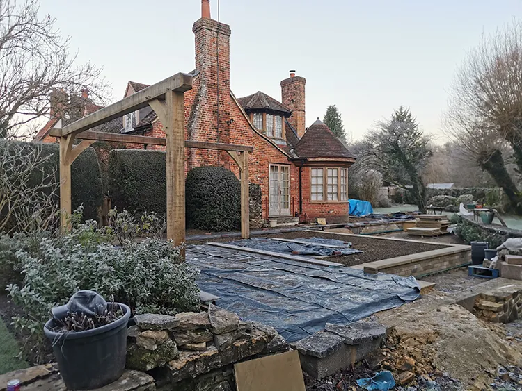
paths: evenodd
<path fill-rule="evenodd" d="M 60 129 L 52 128 L 49 135 L 60 137 Z M 122 142 L 131 144 L 163 145 L 166 146 L 165 138 L 149 137 L 143 135 L 125 135 L 120 133 L 105 133 L 95 131 L 83 131 L 74 135 L 79 140 Z M 185 148 L 214 149 L 217 151 L 252 152 L 253 147 L 249 145 L 223 144 L 221 142 L 203 142 L 185 140 Z"/>

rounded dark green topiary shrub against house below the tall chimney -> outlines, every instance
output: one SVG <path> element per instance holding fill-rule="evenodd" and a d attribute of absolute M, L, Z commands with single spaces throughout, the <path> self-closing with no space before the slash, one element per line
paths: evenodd
<path fill-rule="evenodd" d="M 241 184 L 223 167 L 196 167 L 187 175 L 187 227 L 232 231 L 241 226 Z"/>

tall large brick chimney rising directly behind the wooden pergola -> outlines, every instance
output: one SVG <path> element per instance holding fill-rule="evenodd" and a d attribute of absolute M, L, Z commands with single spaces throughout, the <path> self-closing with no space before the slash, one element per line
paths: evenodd
<path fill-rule="evenodd" d="M 230 142 L 230 26 L 210 17 L 209 0 L 201 0 L 201 18 L 192 27 L 196 39 L 196 71 L 199 71 L 191 140 Z M 199 152 L 201 157 L 198 158 Z M 198 155 L 198 156 L 196 156 Z M 191 151 L 193 164 L 222 165 L 226 153 Z M 203 158 L 207 156 L 207 158 Z M 214 158 L 210 158 L 214 156 Z M 219 157 L 218 157 L 219 156 Z M 221 159 L 221 156 L 224 156 Z M 202 161 L 201 159 L 205 160 Z M 216 161 L 214 161 L 216 160 Z"/>

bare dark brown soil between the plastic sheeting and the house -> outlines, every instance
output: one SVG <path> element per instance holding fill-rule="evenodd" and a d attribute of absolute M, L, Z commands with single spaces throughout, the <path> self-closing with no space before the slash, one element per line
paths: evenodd
<path fill-rule="evenodd" d="M 396 256 L 406 256 L 414 253 L 422 253 L 425 251 L 444 249 L 447 246 L 441 244 L 427 244 L 422 242 L 394 242 L 392 240 L 382 240 L 376 238 L 361 238 L 359 236 L 335 235 L 320 232 L 285 232 L 260 235 L 261 238 L 326 238 L 351 242 L 351 247 L 363 251 L 363 253 L 351 254 L 349 256 L 336 256 L 326 258 L 335 263 L 341 263 L 346 266 L 361 265 L 361 263 L 373 262 L 387 258 L 395 258 Z M 235 238 L 212 238 L 208 240 L 187 241 L 187 244 L 202 244 L 205 242 L 232 242 Z"/>

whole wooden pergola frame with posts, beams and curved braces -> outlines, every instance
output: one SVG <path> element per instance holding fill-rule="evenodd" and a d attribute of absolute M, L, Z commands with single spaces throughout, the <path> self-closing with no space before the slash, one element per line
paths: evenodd
<path fill-rule="evenodd" d="M 139 143 L 166 146 L 167 239 L 176 246 L 185 240 L 185 148 L 226 151 L 239 167 L 241 179 L 241 234 L 250 235 L 248 227 L 248 152 L 253 147 L 184 140 L 184 92 L 191 90 L 192 76 L 175 74 L 164 81 L 95 111 L 63 128 L 53 128 L 50 135 L 60 140 L 60 209 L 61 229 L 68 230 L 71 206 L 71 164 L 96 141 Z M 90 128 L 150 106 L 163 124 L 166 138 L 145 137 L 89 131 Z M 74 145 L 74 139 L 81 142 Z"/>

